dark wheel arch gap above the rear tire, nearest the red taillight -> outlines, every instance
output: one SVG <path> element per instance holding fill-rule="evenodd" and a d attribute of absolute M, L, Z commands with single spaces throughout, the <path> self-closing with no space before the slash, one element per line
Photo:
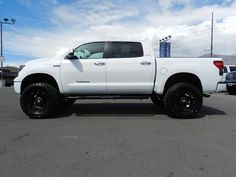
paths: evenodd
<path fill-rule="evenodd" d="M 201 91 L 201 93 L 203 93 L 203 87 L 202 87 L 202 83 L 199 77 L 196 76 L 195 74 L 185 73 L 185 72 L 173 74 L 172 76 L 170 76 L 165 83 L 163 93 L 165 94 L 168 88 L 180 82 L 186 82 L 186 83 L 192 84 L 196 86 Z"/>

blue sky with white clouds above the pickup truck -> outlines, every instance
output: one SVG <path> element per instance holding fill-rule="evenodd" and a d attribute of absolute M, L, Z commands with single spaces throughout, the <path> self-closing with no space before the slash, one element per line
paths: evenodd
<path fill-rule="evenodd" d="M 236 0 L 0 0 L 4 65 L 59 56 L 86 41 L 149 40 L 172 36 L 172 57 L 236 55 Z"/>

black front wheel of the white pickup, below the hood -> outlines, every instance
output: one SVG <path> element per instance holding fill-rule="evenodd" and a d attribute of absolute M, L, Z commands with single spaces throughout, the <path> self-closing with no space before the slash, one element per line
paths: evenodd
<path fill-rule="evenodd" d="M 46 118 L 56 107 L 58 95 L 58 91 L 50 84 L 31 84 L 21 94 L 21 108 L 30 118 Z"/>

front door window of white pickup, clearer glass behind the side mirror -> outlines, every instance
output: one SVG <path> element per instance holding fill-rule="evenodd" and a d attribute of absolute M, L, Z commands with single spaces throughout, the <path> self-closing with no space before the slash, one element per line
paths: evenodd
<path fill-rule="evenodd" d="M 79 59 L 102 59 L 104 58 L 105 42 L 94 42 L 84 44 L 74 51 Z"/>

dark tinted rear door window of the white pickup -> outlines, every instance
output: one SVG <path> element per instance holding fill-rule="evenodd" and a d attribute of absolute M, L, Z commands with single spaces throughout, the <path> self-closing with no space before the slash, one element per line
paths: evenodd
<path fill-rule="evenodd" d="M 112 42 L 111 58 L 136 58 L 143 56 L 140 42 Z"/>

